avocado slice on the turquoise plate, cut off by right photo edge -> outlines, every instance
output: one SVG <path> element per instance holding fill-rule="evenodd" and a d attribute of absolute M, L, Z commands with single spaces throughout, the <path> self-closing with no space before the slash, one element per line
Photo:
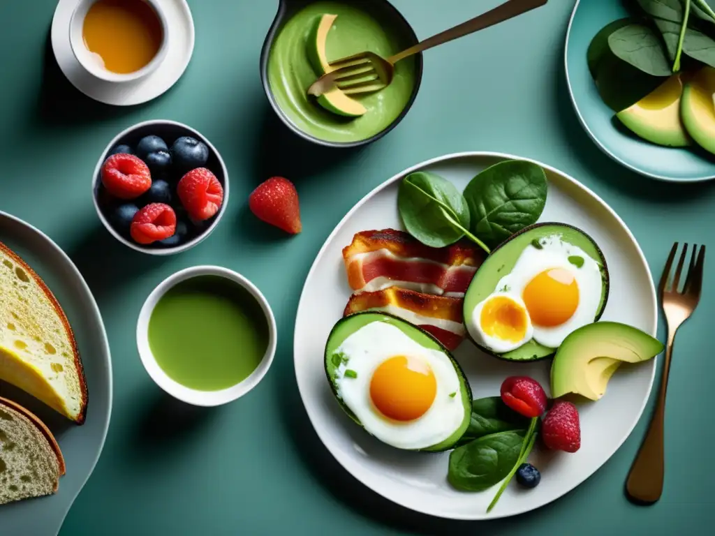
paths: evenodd
<path fill-rule="evenodd" d="M 715 154 L 715 69 L 703 67 L 686 82 L 681 117 L 688 134 Z"/>

